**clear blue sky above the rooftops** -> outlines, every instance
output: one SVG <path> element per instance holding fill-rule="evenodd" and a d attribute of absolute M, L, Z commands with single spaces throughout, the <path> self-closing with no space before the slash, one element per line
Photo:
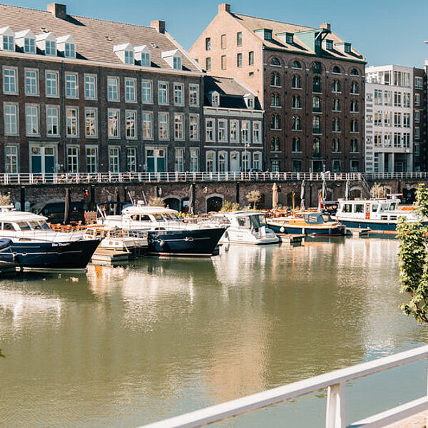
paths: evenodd
<path fill-rule="evenodd" d="M 0 0 L 1 1 L 1 0 Z M 46 10 L 49 1 L 1 1 Z M 150 25 L 166 21 L 167 30 L 189 49 L 217 13 L 223 0 L 58 0 L 72 15 Z M 428 58 L 428 0 L 231 0 L 232 11 L 292 24 L 319 26 L 350 41 L 370 65 L 394 63 L 422 67 Z"/>

